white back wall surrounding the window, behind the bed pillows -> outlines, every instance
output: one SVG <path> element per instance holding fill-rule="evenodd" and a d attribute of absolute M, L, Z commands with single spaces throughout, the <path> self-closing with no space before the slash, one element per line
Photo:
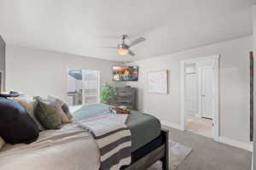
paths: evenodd
<path fill-rule="evenodd" d="M 102 85 L 112 82 L 113 65 L 120 63 L 8 45 L 6 88 L 43 97 L 51 94 L 66 100 L 67 68 L 101 71 Z"/>

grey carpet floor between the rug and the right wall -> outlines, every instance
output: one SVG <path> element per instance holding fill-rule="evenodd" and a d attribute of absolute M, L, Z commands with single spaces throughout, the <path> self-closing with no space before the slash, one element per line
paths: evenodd
<path fill-rule="evenodd" d="M 170 139 L 192 148 L 177 170 L 251 170 L 252 153 L 171 127 Z"/>

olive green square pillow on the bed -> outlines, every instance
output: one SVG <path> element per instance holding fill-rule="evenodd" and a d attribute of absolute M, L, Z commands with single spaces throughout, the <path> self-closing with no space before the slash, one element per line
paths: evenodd
<path fill-rule="evenodd" d="M 55 105 L 51 105 L 48 102 L 37 99 L 34 115 L 38 121 L 47 129 L 61 128 L 61 116 L 58 114 Z"/>

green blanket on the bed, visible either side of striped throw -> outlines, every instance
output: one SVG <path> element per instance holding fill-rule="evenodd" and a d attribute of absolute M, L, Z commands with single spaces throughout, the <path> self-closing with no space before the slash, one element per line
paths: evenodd
<path fill-rule="evenodd" d="M 84 105 L 73 113 L 73 120 L 79 122 L 90 116 L 109 114 L 108 107 L 104 104 Z M 138 150 L 160 136 L 160 121 L 156 117 L 140 111 L 131 111 L 126 125 L 131 130 L 131 152 Z"/>

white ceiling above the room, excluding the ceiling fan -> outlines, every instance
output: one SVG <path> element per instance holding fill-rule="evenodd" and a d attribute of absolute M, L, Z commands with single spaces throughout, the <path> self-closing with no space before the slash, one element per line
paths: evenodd
<path fill-rule="evenodd" d="M 254 0 L 0 0 L 7 44 L 131 61 L 253 34 Z M 147 40 L 119 55 L 120 36 Z M 127 41 L 129 43 L 129 41 Z"/>

